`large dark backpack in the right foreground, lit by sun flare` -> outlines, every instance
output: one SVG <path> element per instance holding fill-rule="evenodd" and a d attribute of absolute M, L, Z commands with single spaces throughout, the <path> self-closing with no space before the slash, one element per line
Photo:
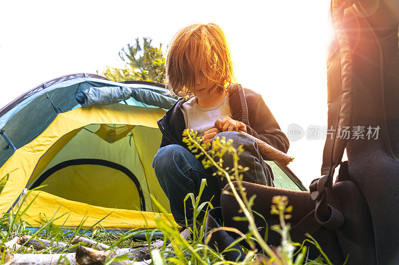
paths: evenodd
<path fill-rule="evenodd" d="M 302 242 L 310 233 L 333 263 L 348 258 L 349 264 L 398 264 L 399 1 L 332 0 L 330 15 L 335 36 L 327 57 L 329 133 L 322 177 L 312 181 L 310 192 L 243 184 L 248 198 L 256 194 L 252 209 L 269 227 L 279 223 L 270 214 L 272 197 L 286 195 L 293 205 L 292 240 Z M 348 161 L 341 162 L 345 148 Z M 246 221 L 232 218 L 240 216 L 238 209 L 234 197 L 222 192 L 221 207 L 209 211 L 208 230 L 224 222 L 247 232 Z M 255 223 L 266 231 L 262 218 L 255 216 Z M 218 231 L 209 244 L 220 250 L 235 238 Z M 268 232 L 269 245 L 280 240 Z M 309 258 L 318 255 L 310 248 Z M 226 253 L 229 260 L 240 257 L 239 251 Z"/>

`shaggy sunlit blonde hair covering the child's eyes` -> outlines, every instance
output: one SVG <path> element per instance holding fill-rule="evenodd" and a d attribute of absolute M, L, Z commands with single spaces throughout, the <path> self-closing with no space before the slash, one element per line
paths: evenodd
<path fill-rule="evenodd" d="M 224 33 L 214 24 L 193 24 L 173 37 L 166 56 L 166 84 L 172 94 L 193 95 L 199 76 L 223 91 L 233 80 L 231 55 Z"/>

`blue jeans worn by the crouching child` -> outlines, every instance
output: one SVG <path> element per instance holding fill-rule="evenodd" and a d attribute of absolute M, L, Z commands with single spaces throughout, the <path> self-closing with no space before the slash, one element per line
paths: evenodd
<path fill-rule="evenodd" d="M 249 168 L 243 173 L 243 181 L 272 185 L 271 168 L 263 161 L 257 143 L 253 139 L 237 132 L 221 132 L 216 137 L 232 139 L 234 148 L 243 144 L 244 152 L 241 153 L 238 164 Z M 223 156 L 224 168 L 232 168 L 232 162 L 231 155 Z M 212 176 L 215 169 L 204 169 L 201 162 L 186 148 L 180 145 L 160 148 L 154 157 L 153 168 L 162 189 L 169 198 L 171 212 L 177 223 L 185 224 L 184 198 L 188 193 L 198 196 L 202 178 L 206 178 L 207 185 L 202 192 L 201 202 L 210 201 L 213 207 L 220 206 L 220 192 L 227 184 L 227 180 Z M 193 218 L 193 206 L 190 199 L 186 201 L 186 212 L 190 222 Z"/>

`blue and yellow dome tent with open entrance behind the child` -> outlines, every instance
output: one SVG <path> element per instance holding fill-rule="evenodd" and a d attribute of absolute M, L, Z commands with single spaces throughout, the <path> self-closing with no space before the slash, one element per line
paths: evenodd
<path fill-rule="evenodd" d="M 29 90 L 0 110 L 0 213 L 21 197 L 32 227 L 156 227 L 170 212 L 152 168 L 160 146 L 157 120 L 176 99 L 151 82 L 68 75 Z M 118 102 L 118 103 L 115 103 Z M 84 107 L 82 107 L 84 106 Z M 278 187 L 304 189 L 288 168 L 270 162 Z M 42 186 L 45 185 L 45 186 Z M 37 188 L 25 196 L 26 190 Z"/>

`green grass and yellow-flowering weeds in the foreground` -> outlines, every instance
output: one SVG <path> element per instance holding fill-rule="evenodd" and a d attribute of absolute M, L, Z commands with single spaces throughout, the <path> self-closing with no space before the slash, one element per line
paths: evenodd
<path fill-rule="evenodd" d="M 94 224 L 93 226 L 82 229 L 84 225 L 84 219 L 82 220 L 79 227 L 75 230 L 64 231 L 62 227 L 58 227 L 54 225 L 54 221 L 56 218 L 54 216 L 46 218 L 46 222 L 39 227 L 36 231 L 32 232 L 27 229 L 27 223 L 23 220 L 23 214 L 26 212 L 28 207 L 25 209 L 21 209 L 19 207 L 13 213 L 6 213 L 1 215 L 0 217 L 0 243 L 7 242 L 12 239 L 14 235 L 30 235 L 32 237 L 42 238 L 51 240 L 52 242 L 64 242 L 71 243 L 72 239 L 75 236 L 86 236 L 87 232 L 92 232 L 92 235 L 88 238 L 95 240 L 99 243 L 106 244 L 111 248 L 134 248 L 138 245 L 147 244 L 148 246 L 151 242 L 154 241 L 153 232 L 163 232 L 164 235 L 164 244 L 160 249 L 150 250 L 150 257 L 152 259 L 152 264 L 154 265 L 164 265 L 164 264 L 190 264 L 190 265 L 205 265 L 205 264 L 213 264 L 213 265 L 221 265 L 221 264 L 275 264 L 275 265 L 300 265 L 300 264 L 331 264 L 328 257 L 324 254 L 319 244 L 316 242 L 314 238 L 310 235 L 309 238 L 305 240 L 302 244 L 294 243 L 291 241 L 289 236 L 290 226 L 286 223 L 285 220 L 289 219 L 290 212 L 292 211 L 292 207 L 288 206 L 288 200 L 286 197 L 274 197 L 273 205 L 271 209 L 271 213 L 277 214 L 280 219 L 280 224 L 276 226 L 270 227 L 274 231 L 278 232 L 281 237 L 281 245 L 275 249 L 271 249 L 267 245 L 267 235 L 266 238 L 263 238 L 258 230 L 256 229 L 256 225 L 254 222 L 254 213 L 251 210 L 251 206 L 253 204 L 254 197 L 247 198 L 244 189 L 241 185 L 241 173 L 246 169 L 238 166 L 239 154 L 242 152 L 241 148 L 235 150 L 231 147 L 231 141 L 226 141 L 225 139 L 216 139 L 215 143 L 212 145 L 212 148 L 209 152 L 206 152 L 205 149 L 208 145 L 201 144 L 201 138 L 197 137 L 197 133 L 194 131 L 185 131 L 184 133 L 184 142 L 186 142 L 189 146 L 189 149 L 193 151 L 193 153 L 197 153 L 205 155 L 205 158 L 202 160 L 202 164 L 205 168 L 207 167 L 215 167 L 217 169 L 217 173 L 220 177 L 225 177 L 231 187 L 231 195 L 235 196 L 238 204 L 240 205 L 241 211 L 244 213 L 244 219 L 249 223 L 249 232 L 247 234 L 242 234 L 235 228 L 224 228 L 227 231 L 233 231 L 240 234 L 240 238 L 238 238 L 234 243 L 239 243 L 245 240 L 250 249 L 243 249 L 245 253 L 245 257 L 243 257 L 243 261 L 241 262 L 231 262 L 226 261 L 223 256 L 223 252 L 219 252 L 213 250 L 205 243 L 209 240 L 209 235 L 205 235 L 205 224 L 206 224 L 206 213 L 209 209 L 212 208 L 212 204 L 210 202 L 202 202 L 200 203 L 200 195 L 205 188 L 206 181 L 202 179 L 200 185 L 200 193 L 198 197 L 195 197 L 194 194 L 188 194 L 185 198 L 184 203 L 191 203 L 194 209 L 194 226 L 190 228 L 192 236 L 188 240 L 182 237 L 179 232 L 178 227 L 173 225 L 173 220 L 169 215 L 165 215 L 166 219 L 161 219 L 160 217 L 156 217 L 155 221 L 157 223 L 157 229 L 147 229 L 146 230 L 146 241 L 135 241 L 133 238 L 136 234 L 141 233 L 139 230 L 129 230 L 129 231 L 119 231 L 119 232 L 107 232 L 101 226 L 101 220 Z M 223 160 L 222 156 L 224 154 L 230 154 L 233 156 L 234 166 L 233 169 L 223 168 Z M 217 159 L 216 159 L 217 158 Z M 217 162 L 216 162 L 217 161 Z M 0 191 L 2 187 L 5 185 L 7 181 L 7 177 L 3 177 L 0 179 Z M 236 180 L 238 185 L 238 190 L 234 188 L 232 181 Z M 1 194 L 0 194 L 1 196 Z M 22 198 L 23 199 L 23 198 Z M 167 213 L 166 209 L 155 199 L 153 198 L 154 203 L 159 207 L 160 212 Z M 20 203 L 22 205 L 22 203 Z M 204 212 L 204 215 L 200 215 L 200 213 Z M 204 216 L 202 219 L 198 219 L 199 216 Z M 106 216 L 105 216 L 106 217 Z M 104 217 L 104 218 L 105 218 Z M 58 217 L 60 218 L 60 217 Z M 187 224 L 187 220 L 186 220 Z M 213 233 L 215 230 L 210 231 Z M 257 243 L 261 249 L 255 249 L 255 244 Z M 314 261 L 310 261 L 307 259 L 308 249 L 304 243 L 310 243 L 316 246 L 319 249 L 321 255 Z M 170 244 L 169 244 L 170 243 Z M 2 244 L 2 243 L 1 243 Z M 7 250 L 7 248 L 0 245 L 0 264 L 4 263 L 4 258 L 6 257 L 6 253 L 20 253 L 20 254 L 54 254 L 54 253 L 70 253 L 72 252 L 72 248 L 81 245 L 82 243 L 78 243 L 76 245 L 71 246 L 70 248 L 60 248 L 60 247 L 48 247 L 41 251 L 36 251 L 32 248 L 19 248 L 18 250 Z M 233 244 L 232 244 L 233 245 Z M 231 245 L 231 246 L 232 246 Z M 226 249 L 225 251 L 228 251 Z M 265 253 L 267 257 L 263 255 L 258 255 L 258 253 Z M 105 264 L 110 264 L 113 261 L 121 261 L 127 260 L 127 255 L 120 255 L 116 257 L 110 257 L 107 259 Z M 66 261 L 68 264 L 68 261 Z"/>

